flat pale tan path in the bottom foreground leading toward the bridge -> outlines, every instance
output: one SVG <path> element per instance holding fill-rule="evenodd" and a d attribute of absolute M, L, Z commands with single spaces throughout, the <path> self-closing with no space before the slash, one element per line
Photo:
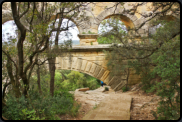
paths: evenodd
<path fill-rule="evenodd" d="M 130 95 L 109 94 L 83 120 L 130 120 L 131 100 Z"/>

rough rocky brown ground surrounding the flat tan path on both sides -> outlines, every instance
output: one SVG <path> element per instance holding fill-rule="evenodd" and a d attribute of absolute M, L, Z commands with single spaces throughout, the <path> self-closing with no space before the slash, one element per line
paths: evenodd
<path fill-rule="evenodd" d="M 104 86 L 105 87 L 105 86 Z M 139 88 L 139 84 L 136 84 L 130 88 L 127 92 L 114 92 L 112 89 L 103 92 L 104 87 L 100 87 L 96 90 L 88 90 L 86 92 L 75 90 L 75 100 L 81 104 L 77 117 L 71 117 L 70 115 L 62 115 L 62 120 L 81 120 L 90 110 L 97 107 L 97 105 L 108 95 L 112 94 L 128 94 L 132 96 L 131 103 L 131 120 L 154 120 L 154 116 L 150 113 L 151 110 L 156 111 L 159 101 L 159 96 L 154 94 L 146 94 Z"/>

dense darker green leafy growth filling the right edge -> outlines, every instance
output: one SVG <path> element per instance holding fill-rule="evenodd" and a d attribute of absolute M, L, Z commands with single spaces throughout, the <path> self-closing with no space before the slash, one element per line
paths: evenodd
<path fill-rule="evenodd" d="M 152 41 L 155 45 L 160 40 L 163 45 L 150 56 L 150 61 L 147 61 L 148 64 L 152 63 L 156 66 L 152 70 L 149 67 L 143 67 L 145 71 L 142 75 L 143 90 L 147 93 L 155 92 L 156 95 L 161 96 L 157 112 L 152 112 L 158 120 L 176 120 L 179 118 L 180 38 L 176 36 L 170 39 L 172 34 L 178 31 L 178 23 L 178 20 L 161 22 L 163 27 L 157 29 L 157 32 L 152 35 Z M 142 62 L 138 63 L 142 65 Z M 155 81 L 156 77 L 160 78 L 160 81 Z M 152 80 L 153 82 L 151 82 Z M 175 94 L 177 95 L 175 96 Z"/>

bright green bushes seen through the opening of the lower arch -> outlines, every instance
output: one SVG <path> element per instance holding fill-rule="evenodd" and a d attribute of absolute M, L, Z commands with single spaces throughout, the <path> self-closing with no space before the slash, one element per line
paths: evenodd
<path fill-rule="evenodd" d="M 62 78 L 60 85 L 69 91 L 75 91 L 79 88 L 89 88 L 89 90 L 94 90 L 100 87 L 99 79 L 80 71 L 67 69 L 56 70 L 56 81 L 58 80 L 59 75 Z"/>

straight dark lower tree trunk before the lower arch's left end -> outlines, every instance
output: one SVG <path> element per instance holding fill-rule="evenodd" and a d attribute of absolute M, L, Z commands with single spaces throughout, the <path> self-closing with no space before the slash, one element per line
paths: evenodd
<path fill-rule="evenodd" d="M 52 96 L 54 96 L 54 75 L 55 75 L 55 69 L 56 69 L 55 59 L 56 58 L 48 60 L 48 62 L 49 62 L 49 72 L 50 72 L 50 75 L 51 75 L 51 78 L 50 78 L 50 94 Z"/>

